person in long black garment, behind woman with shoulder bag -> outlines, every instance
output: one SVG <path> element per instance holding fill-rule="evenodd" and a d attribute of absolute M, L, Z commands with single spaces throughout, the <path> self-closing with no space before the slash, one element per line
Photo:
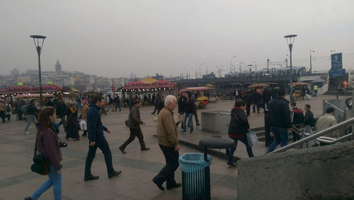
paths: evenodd
<path fill-rule="evenodd" d="M 77 123 L 77 109 L 73 102 L 67 107 L 67 136 L 66 139 L 72 138 L 74 141 L 79 140 L 79 124 Z"/>

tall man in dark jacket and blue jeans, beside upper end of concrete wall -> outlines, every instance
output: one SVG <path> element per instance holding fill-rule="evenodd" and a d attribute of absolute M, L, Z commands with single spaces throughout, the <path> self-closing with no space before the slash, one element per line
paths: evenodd
<path fill-rule="evenodd" d="M 275 140 L 270 144 L 267 153 L 274 151 L 279 143 L 281 147 L 287 146 L 288 131 L 292 127 L 289 102 L 285 100 L 285 89 L 278 89 L 277 94 L 277 97 L 269 104 L 270 131 L 273 132 Z"/>

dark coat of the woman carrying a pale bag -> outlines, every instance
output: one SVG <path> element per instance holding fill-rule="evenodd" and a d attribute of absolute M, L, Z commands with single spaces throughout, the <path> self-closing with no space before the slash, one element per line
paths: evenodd
<path fill-rule="evenodd" d="M 237 117 L 237 118 L 236 118 Z M 244 136 L 249 131 L 249 121 L 246 113 L 239 107 L 234 107 L 231 110 L 231 119 L 229 124 L 229 136 L 239 137 Z"/>

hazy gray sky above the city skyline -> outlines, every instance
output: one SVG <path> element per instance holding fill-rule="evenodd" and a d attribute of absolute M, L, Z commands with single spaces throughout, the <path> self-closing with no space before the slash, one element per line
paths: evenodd
<path fill-rule="evenodd" d="M 229 71 L 230 58 L 266 67 L 284 61 L 284 35 L 297 34 L 293 65 L 330 68 L 331 50 L 354 69 L 353 0 L 0 0 L 1 74 L 38 69 L 30 35 L 45 35 L 42 70 L 120 77 Z"/>

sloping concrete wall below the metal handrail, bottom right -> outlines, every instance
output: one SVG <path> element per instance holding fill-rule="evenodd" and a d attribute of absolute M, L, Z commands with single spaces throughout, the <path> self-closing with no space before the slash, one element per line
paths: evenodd
<path fill-rule="evenodd" d="M 237 199 L 354 199 L 354 141 L 241 159 Z"/>

